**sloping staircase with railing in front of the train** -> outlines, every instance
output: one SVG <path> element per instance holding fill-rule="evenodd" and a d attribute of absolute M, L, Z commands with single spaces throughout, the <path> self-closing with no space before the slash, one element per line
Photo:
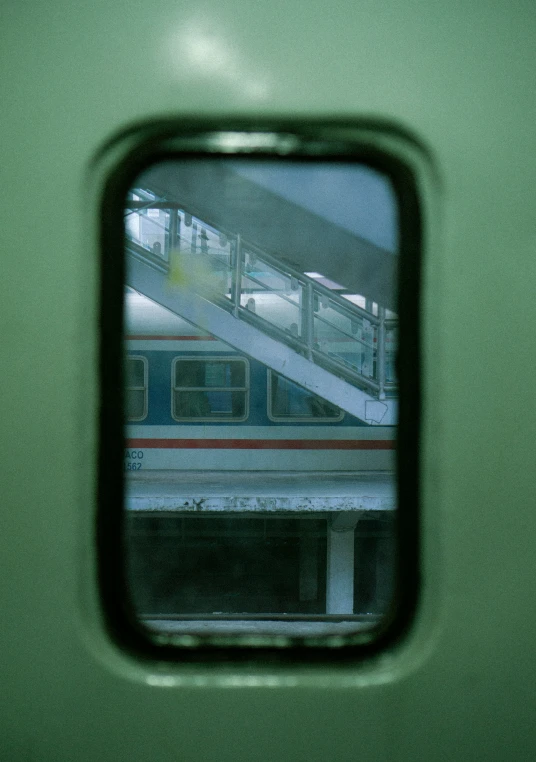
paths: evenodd
<path fill-rule="evenodd" d="M 147 188 L 126 202 L 127 285 L 371 424 L 397 417 L 397 320 Z"/>

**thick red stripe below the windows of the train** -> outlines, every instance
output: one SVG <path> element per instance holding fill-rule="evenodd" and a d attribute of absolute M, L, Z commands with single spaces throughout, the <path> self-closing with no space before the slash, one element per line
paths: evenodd
<path fill-rule="evenodd" d="M 394 450 L 392 439 L 127 439 L 136 449 L 165 450 Z"/>

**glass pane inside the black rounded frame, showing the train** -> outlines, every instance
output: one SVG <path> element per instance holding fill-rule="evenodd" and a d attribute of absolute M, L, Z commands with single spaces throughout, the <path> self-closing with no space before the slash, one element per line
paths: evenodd
<path fill-rule="evenodd" d="M 401 210 L 339 149 L 178 153 L 126 194 L 124 569 L 154 643 L 334 645 L 396 609 Z"/>

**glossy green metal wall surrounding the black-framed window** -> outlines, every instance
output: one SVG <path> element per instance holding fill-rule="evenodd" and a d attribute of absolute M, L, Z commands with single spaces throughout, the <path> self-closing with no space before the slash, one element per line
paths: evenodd
<path fill-rule="evenodd" d="M 535 26 L 504 0 L 4 4 L 2 760 L 534 758 Z M 92 161 L 233 114 L 373 118 L 431 157 L 423 595 L 362 666 L 143 664 L 99 618 Z"/>

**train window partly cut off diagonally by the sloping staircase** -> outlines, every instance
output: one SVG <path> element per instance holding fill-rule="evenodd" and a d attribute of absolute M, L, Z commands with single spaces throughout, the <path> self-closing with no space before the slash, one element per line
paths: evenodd
<path fill-rule="evenodd" d="M 272 421 L 342 421 L 344 412 L 316 394 L 268 371 L 268 418 Z"/>

